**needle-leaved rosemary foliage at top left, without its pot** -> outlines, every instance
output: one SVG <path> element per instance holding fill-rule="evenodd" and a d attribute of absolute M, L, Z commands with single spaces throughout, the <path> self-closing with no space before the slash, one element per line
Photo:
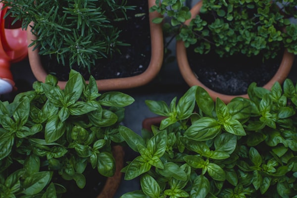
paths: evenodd
<path fill-rule="evenodd" d="M 110 57 L 119 46 L 128 45 L 118 39 L 121 30 L 112 25 L 127 19 L 127 9 L 134 9 L 127 5 L 127 0 L 0 2 L 9 6 L 6 15 L 22 21 L 23 29 L 32 26 L 37 40 L 30 46 L 36 45 L 41 55 L 53 55 L 63 65 L 69 59 L 70 67 L 77 64 L 90 71 L 96 59 Z"/>

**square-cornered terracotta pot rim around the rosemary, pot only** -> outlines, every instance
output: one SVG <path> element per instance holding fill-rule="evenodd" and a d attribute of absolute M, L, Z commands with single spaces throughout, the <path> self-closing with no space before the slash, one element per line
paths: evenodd
<path fill-rule="evenodd" d="M 148 7 L 151 7 L 154 4 L 155 0 L 148 0 Z M 163 33 L 162 25 L 152 23 L 152 19 L 159 16 L 160 15 L 157 12 L 149 13 L 151 58 L 147 70 L 137 76 L 97 80 L 97 85 L 100 91 L 129 89 L 143 86 L 150 82 L 158 74 L 163 61 Z M 31 34 L 30 28 L 28 28 L 27 31 L 28 41 L 31 43 L 32 40 L 36 40 L 36 37 Z M 38 81 L 45 82 L 46 76 L 48 74 L 41 64 L 41 59 L 38 54 L 39 50 L 36 49 L 33 51 L 33 48 L 34 46 L 28 49 L 29 62 L 32 72 Z M 58 82 L 58 85 L 61 89 L 64 89 L 65 84 L 66 81 Z"/>

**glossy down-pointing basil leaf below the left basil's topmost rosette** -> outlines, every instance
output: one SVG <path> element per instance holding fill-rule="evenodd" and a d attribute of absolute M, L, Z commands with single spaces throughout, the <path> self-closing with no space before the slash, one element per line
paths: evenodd
<path fill-rule="evenodd" d="M 61 122 L 59 117 L 53 116 L 45 128 L 45 139 L 47 143 L 58 140 L 65 132 L 65 123 Z"/>

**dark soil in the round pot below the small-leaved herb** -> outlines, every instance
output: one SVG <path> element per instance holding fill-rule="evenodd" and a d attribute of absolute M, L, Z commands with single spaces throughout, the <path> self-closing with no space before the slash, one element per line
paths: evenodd
<path fill-rule="evenodd" d="M 247 57 L 233 55 L 220 58 L 215 53 L 200 55 L 193 49 L 187 49 L 189 64 L 198 80 L 206 87 L 221 94 L 247 94 L 247 88 L 255 82 L 264 86 L 276 73 L 283 52 L 274 59 L 264 60 L 260 55 Z"/>

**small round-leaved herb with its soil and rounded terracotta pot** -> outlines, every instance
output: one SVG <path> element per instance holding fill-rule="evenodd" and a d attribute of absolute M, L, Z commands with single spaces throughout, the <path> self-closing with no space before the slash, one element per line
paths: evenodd
<path fill-rule="evenodd" d="M 219 97 L 229 102 L 236 96 L 247 98 L 247 87 L 256 80 L 266 89 L 285 80 L 297 54 L 297 24 L 289 19 L 297 18 L 295 1 L 200 0 L 191 9 L 183 2 L 162 1 L 151 11 L 170 17 L 177 38 L 178 66 L 189 86 L 201 86 L 214 100 Z M 226 59 L 229 62 L 224 63 Z M 257 73 L 267 73 L 266 68 L 272 73 L 264 76 L 265 80 L 263 75 L 252 79 Z M 225 74 L 229 76 L 222 76 Z M 232 75 L 240 77 L 233 80 Z M 216 88 L 215 83 L 221 87 Z"/>

